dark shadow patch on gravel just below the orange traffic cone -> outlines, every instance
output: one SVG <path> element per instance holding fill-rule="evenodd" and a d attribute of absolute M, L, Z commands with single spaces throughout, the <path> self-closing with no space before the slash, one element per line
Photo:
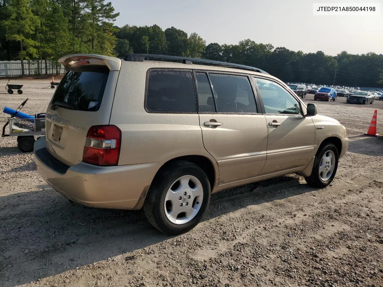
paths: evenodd
<path fill-rule="evenodd" d="M 374 157 L 383 156 L 383 137 L 373 137 L 368 135 L 360 135 L 350 137 L 349 152 L 359 153 L 361 155 L 371 155 Z"/>

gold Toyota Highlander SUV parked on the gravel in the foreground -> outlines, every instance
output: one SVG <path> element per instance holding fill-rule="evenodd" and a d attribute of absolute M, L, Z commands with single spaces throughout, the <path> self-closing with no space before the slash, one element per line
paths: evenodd
<path fill-rule="evenodd" d="M 195 227 L 222 189 L 288 173 L 327 186 L 347 152 L 344 126 L 254 67 L 142 54 L 59 61 L 67 72 L 34 144 L 39 173 L 73 202 L 143 207 L 168 234 Z"/>

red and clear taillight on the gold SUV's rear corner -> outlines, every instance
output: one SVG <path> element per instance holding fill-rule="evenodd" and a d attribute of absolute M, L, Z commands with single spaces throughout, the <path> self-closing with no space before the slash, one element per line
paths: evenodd
<path fill-rule="evenodd" d="M 92 165 L 118 164 L 121 130 L 113 125 L 92 126 L 85 139 L 82 161 Z"/>

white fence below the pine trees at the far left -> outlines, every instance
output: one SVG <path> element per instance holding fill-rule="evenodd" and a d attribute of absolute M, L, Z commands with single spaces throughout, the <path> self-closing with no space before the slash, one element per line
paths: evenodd
<path fill-rule="evenodd" d="M 57 73 L 65 73 L 65 68 L 60 63 L 47 60 L 47 68 L 45 68 L 44 60 L 24 60 L 24 75 L 26 76 L 33 76 L 39 74 L 56 75 Z M 0 77 L 14 76 L 21 76 L 21 61 L 0 61 Z"/>

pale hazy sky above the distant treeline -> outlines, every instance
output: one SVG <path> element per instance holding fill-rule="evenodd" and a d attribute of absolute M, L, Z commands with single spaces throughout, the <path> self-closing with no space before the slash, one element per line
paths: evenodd
<path fill-rule="evenodd" d="M 383 11 L 380 16 L 313 16 L 318 0 L 107 1 L 120 13 L 116 26 L 174 26 L 188 35 L 196 32 L 206 44 L 251 39 L 304 53 L 383 54 Z M 381 3 L 383 9 L 383 0 L 352 2 Z"/>

